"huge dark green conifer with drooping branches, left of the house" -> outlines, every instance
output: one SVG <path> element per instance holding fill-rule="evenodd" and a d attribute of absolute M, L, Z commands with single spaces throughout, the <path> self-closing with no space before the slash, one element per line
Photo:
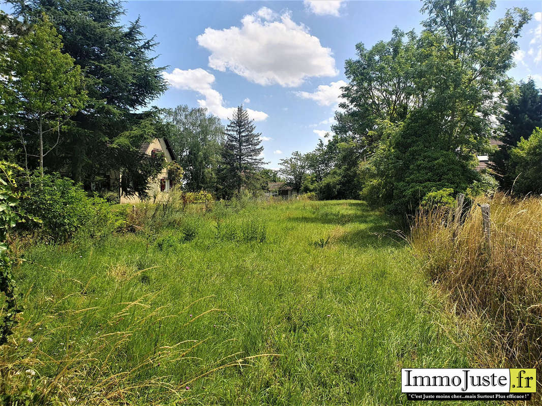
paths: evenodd
<path fill-rule="evenodd" d="M 119 156 L 131 157 L 128 168 L 144 166 L 140 139 L 125 142 L 126 133 L 149 117 L 149 102 L 165 91 L 164 67 L 150 54 L 157 43 L 145 38 L 140 19 L 127 25 L 122 2 L 73 0 L 10 0 L 13 14 L 33 22 L 46 12 L 62 36 L 63 52 L 72 56 L 85 75 L 89 101 L 69 126 L 61 129 L 59 146 L 47 157 L 55 171 L 68 170 L 87 187 L 96 177 L 119 169 Z M 117 139 L 121 138 L 122 142 Z M 125 153 L 123 153 L 125 152 Z"/>

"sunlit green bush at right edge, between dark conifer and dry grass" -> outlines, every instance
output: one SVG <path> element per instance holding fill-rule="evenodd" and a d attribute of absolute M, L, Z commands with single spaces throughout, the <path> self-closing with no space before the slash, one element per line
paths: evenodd
<path fill-rule="evenodd" d="M 542 194 L 542 128 L 535 128 L 528 139 L 521 138 L 510 155 L 513 191 Z"/>

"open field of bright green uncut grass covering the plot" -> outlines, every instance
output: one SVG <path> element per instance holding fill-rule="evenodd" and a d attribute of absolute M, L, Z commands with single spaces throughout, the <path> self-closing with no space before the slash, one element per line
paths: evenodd
<path fill-rule="evenodd" d="M 70 404 L 202 405 L 405 404 L 401 368 L 474 366 L 464 324 L 364 202 L 186 218 L 33 247 L 4 365 Z"/>

